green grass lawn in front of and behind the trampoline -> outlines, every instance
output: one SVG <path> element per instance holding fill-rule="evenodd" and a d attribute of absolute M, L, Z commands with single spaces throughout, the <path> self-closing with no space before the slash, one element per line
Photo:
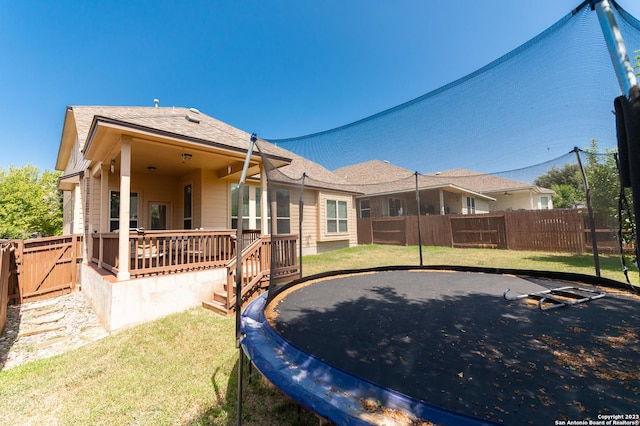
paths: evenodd
<path fill-rule="evenodd" d="M 426 265 L 594 274 L 590 255 L 429 247 L 423 257 Z M 362 246 L 307 256 L 303 272 L 418 264 L 417 247 Z M 603 276 L 624 281 L 616 256 L 603 256 L 601 268 Z M 637 270 L 630 276 L 638 283 Z M 236 424 L 237 368 L 235 319 L 194 308 L 1 371 L 0 425 Z M 318 421 L 256 376 L 245 385 L 243 423 Z"/>

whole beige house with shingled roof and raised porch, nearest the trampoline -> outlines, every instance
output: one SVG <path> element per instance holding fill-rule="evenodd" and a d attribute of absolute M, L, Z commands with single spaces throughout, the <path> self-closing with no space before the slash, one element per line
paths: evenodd
<path fill-rule="evenodd" d="M 234 195 L 250 139 L 196 109 L 67 108 L 56 161 L 64 232 L 84 236 L 82 290 L 107 329 L 198 305 L 229 285 Z M 293 249 L 303 172 L 303 253 L 355 245 L 355 193 L 344 181 L 273 144 L 258 145 L 263 156 L 254 149 L 243 202 L 247 244 L 270 229 L 261 202 L 268 199 L 265 158 L 281 171 L 272 185 L 278 255 L 287 257 L 281 266 L 291 267 L 300 248 Z M 261 253 L 251 255 L 254 263 Z"/>

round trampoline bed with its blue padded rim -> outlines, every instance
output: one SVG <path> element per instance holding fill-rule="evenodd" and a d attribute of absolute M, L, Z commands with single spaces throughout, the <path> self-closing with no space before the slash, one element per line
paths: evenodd
<path fill-rule="evenodd" d="M 598 296 L 541 309 L 574 287 Z M 241 331 L 269 381 L 336 424 L 542 425 L 638 420 L 639 325 L 640 297 L 616 281 L 412 266 L 292 282 Z"/>

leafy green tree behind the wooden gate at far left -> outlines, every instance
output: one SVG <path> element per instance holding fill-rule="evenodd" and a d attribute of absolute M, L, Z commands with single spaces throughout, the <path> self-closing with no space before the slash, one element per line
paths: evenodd
<path fill-rule="evenodd" d="M 0 169 L 0 238 L 62 233 L 59 172 L 42 174 L 33 165 Z"/>

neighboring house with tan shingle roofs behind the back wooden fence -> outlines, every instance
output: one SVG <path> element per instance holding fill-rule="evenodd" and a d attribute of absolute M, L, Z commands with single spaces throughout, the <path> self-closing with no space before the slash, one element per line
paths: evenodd
<path fill-rule="evenodd" d="M 358 217 L 417 214 L 478 214 L 553 208 L 553 191 L 468 170 L 418 174 L 385 161 L 367 161 L 334 172 L 362 192 Z"/>

